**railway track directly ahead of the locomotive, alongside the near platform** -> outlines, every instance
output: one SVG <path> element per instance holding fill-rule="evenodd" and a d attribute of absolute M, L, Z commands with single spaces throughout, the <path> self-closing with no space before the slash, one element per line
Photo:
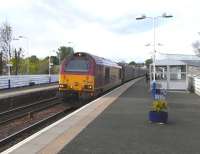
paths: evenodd
<path fill-rule="evenodd" d="M 35 133 L 40 128 L 44 128 L 45 126 L 55 122 L 56 120 L 60 119 L 61 117 L 65 116 L 66 114 L 71 113 L 74 111 L 74 109 L 70 107 L 66 107 L 64 111 L 58 112 L 52 116 L 49 116 L 43 120 L 38 121 L 37 123 L 34 123 L 10 136 L 7 136 L 4 139 L 0 140 L 0 150 L 5 150 L 6 146 L 11 146 L 16 143 L 16 140 L 19 140 L 19 138 L 24 139 L 28 137 L 30 134 Z"/>

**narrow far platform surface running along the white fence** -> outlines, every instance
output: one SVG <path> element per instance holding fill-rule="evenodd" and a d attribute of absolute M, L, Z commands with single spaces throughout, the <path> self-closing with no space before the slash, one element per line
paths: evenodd
<path fill-rule="evenodd" d="M 4 89 L 0 90 L 0 100 L 54 88 L 58 88 L 58 83 L 40 84 L 34 86 Z"/>

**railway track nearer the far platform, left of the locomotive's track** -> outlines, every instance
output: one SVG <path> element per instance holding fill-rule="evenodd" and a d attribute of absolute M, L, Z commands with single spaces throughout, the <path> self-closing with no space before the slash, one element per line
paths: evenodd
<path fill-rule="evenodd" d="M 53 97 L 50 99 L 41 100 L 32 104 L 14 108 L 5 112 L 0 113 L 0 126 L 7 124 L 13 120 L 22 118 L 29 115 L 31 117 L 35 112 L 39 112 L 46 108 L 61 104 L 61 102 L 56 101 L 58 98 Z"/>

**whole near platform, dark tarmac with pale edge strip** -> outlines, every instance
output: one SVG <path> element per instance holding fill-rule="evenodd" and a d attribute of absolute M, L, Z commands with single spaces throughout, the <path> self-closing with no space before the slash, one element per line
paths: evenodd
<path fill-rule="evenodd" d="M 200 99 L 171 92 L 169 123 L 148 121 L 151 96 L 133 80 L 18 143 L 5 153 L 199 153 Z"/>

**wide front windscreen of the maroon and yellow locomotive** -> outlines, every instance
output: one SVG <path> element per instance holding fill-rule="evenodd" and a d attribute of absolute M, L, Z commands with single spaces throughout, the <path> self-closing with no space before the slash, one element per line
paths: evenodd
<path fill-rule="evenodd" d="M 88 72 L 89 61 L 84 59 L 72 59 L 65 66 L 66 72 Z"/>

